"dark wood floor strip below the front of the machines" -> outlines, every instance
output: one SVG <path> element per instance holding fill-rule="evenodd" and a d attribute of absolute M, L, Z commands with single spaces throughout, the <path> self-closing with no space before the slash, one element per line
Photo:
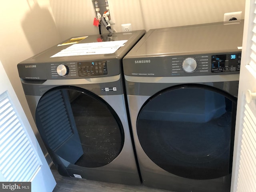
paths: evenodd
<path fill-rule="evenodd" d="M 64 177 L 58 173 L 54 166 L 51 167 L 51 170 L 57 182 L 53 192 L 170 192 L 168 190 L 148 188 L 143 185 L 129 186 Z"/>

